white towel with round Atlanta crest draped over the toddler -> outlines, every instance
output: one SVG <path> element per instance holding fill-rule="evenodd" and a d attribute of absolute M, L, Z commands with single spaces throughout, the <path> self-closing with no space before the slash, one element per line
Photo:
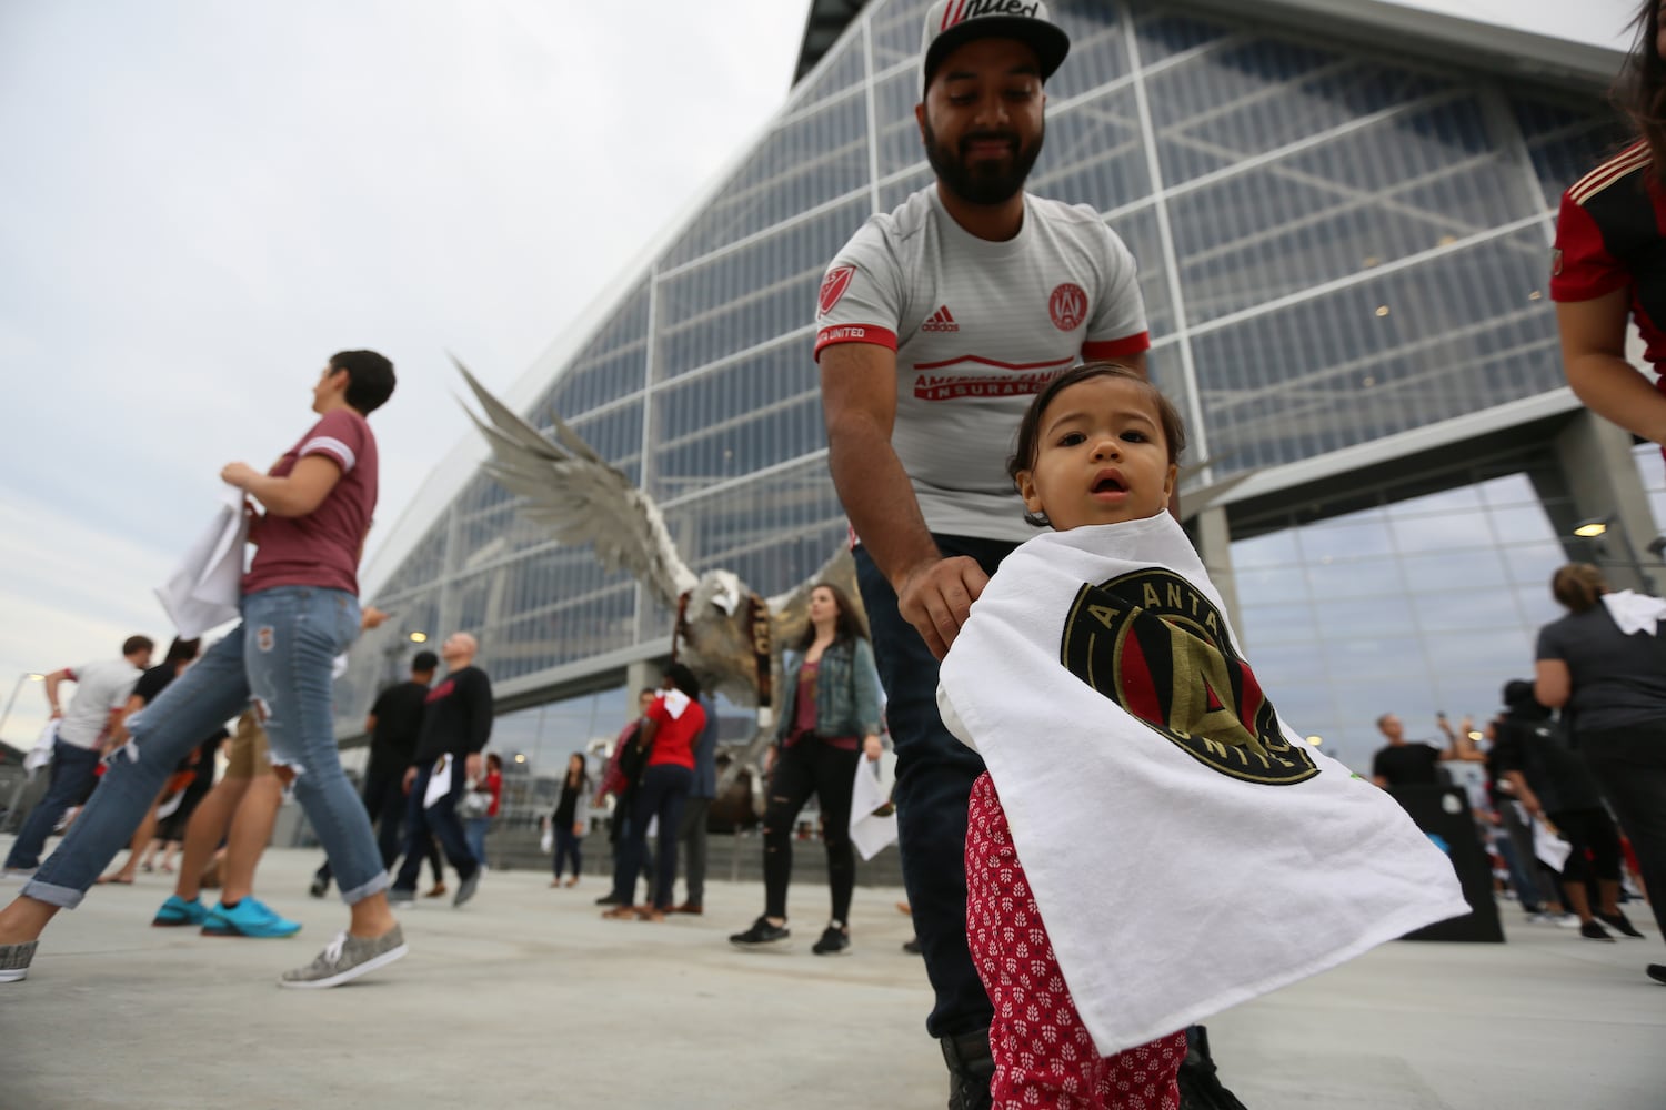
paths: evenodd
<path fill-rule="evenodd" d="M 1166 513 L 1010 554 L 938 706 L 1105 1055 L 1469 912 L 1404 810 L 1278 719 Z"/>

